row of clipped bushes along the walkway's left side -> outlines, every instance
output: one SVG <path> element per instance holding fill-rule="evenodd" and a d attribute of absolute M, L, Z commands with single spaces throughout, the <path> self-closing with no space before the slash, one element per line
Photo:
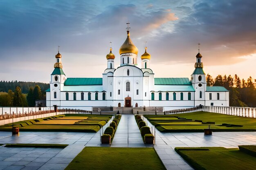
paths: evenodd
<path fill-rule="evenodd" d="M 121 115 L 115 115 L 115 118 L 110 123 L 110 126 L 105 129 L 104 134 L 101 136 L 101 144 L 110 144 L 112 142 L 120 119 Z"/>

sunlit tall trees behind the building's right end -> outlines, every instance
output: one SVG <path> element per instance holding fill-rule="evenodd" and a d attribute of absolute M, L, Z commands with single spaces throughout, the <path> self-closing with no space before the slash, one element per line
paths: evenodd
<path fill-rule="evenodd" d="M 207 86 L 224 86 L 229 90 L 229 106 L 256 107 L 256 79 L 240 79 L 238 75 L 206 76 Z"/>

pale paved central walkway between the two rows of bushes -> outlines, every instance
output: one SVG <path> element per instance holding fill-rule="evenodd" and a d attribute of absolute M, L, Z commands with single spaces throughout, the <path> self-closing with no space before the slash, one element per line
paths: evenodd
<path fill-rule="evenodd" d="M 122 115 L 111 147 L 150 147 L 144 144 L 134 115 Z"/>

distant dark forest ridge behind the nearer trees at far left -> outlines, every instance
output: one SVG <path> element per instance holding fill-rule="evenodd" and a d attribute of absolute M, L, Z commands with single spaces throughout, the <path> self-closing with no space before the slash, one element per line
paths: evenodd
<path fill-rule="evenodd" d="M 20 87 L 21 92 L 23 94 L 27 94 L 29 92 L 30 87 L 35 87 L 38 85 L 41 88 L 41 91 L 46 91 L 50 85 L 49 83 L 40 83 L 40 82 L 18 82 L 16 81 L 1 81 L 0 82 L 0 92 L 6 92 L 8 93 L 9 90 L 15 91 L 15 88 L 17 86 Z"/>

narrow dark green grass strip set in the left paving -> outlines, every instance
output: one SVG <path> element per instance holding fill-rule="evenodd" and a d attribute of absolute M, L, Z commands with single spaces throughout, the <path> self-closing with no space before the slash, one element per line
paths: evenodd
<path fill-rule="evenodd" d="M 67 144 L 6 144 L 11 148 L 66 148 Z"/>

